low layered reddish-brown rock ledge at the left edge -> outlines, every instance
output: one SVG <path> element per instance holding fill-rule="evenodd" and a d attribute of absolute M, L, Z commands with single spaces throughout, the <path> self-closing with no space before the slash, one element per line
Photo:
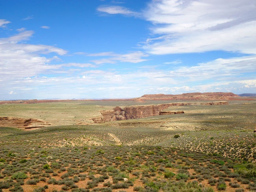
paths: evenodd
<path fill-rule="evenodd" d="M 40 128 L 49 125 L 38 119 L 23 119 L 19 117 L 0 117 L 0 127 L 15 127 L 22 129 Z"/>

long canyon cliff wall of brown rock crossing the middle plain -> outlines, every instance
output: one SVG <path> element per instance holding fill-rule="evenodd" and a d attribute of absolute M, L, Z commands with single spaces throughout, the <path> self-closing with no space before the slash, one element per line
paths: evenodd
<path fill-rule="evenodd" d="M 163 112 L 164 109 L 168 109 L 171 106 L 181 106 L 181 105 L 228 105 L 228 102 L 205 102 L 205 103 L 169 103 L 160 105 L 135 105 L 127 106 L 124 108 L 115 107 L 113 110 L 101 111 L 102 117 L 92 119 L 95 123 L 103 123 L 115 120 L 125 120 L 125 119 L 138 119 L 144 117 L 151 117 L 155 115 L 168 115 L 168 113 Z M 163 113 L 162 113 L 163 112 Z M 179 114 L 181 111 L 171 112 L 169 114 Z M 160 114 L 161 113 L 161 114 Z M 183 112 L 184 113 L 184 112 Z"/>

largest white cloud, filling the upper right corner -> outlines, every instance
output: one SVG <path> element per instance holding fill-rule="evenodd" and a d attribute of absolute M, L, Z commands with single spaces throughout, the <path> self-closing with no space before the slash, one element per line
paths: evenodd
<path fill-rule="evenodd" d="M 254 0 L 156 0 L 144 11 L 158 37 L 144 49 L 152 54 L 213 50 L 256 54 Z"/>

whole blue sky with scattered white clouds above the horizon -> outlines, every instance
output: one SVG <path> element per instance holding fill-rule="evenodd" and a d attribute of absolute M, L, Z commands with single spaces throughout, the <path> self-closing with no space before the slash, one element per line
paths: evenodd
<path fill-rule="evenodd" d="M 256 93 L 255 0 L 2 0 L 0 100 Z"/>

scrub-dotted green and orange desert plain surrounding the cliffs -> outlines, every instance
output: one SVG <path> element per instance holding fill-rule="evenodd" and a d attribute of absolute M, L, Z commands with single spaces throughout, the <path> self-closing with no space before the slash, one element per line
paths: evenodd
<path fill-rule="evenodd" d="M 167 110 L 184 114 L 91 124 L 101 110 L 163 103 L 0 105 L 0 117 L 51 123 L 31 131 L 0 128 L 0 190 L 256 190 L 256 100 L 174 106 Z"/>

